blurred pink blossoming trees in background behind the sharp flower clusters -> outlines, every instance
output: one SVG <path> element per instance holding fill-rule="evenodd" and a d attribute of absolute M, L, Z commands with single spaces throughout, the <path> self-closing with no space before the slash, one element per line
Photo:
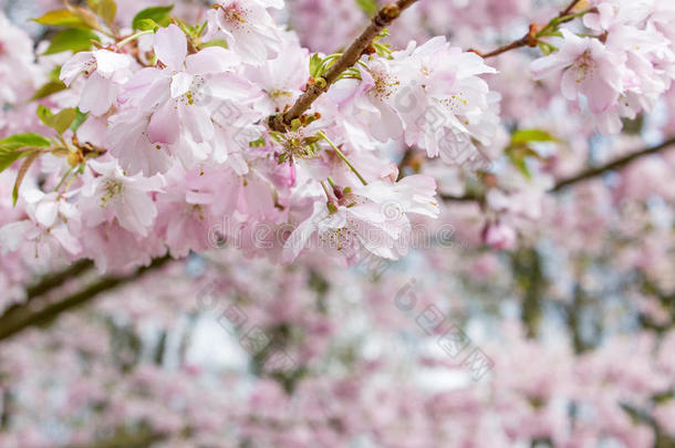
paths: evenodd
<path fill-rule="evenodd" d="M 29 19 L 61 3 L 1 1 L 0 83 L 30 98 L 46 82 L 30 66 L 64 55 L 23 70 L 3 45 L 27 34 L 40 54 L 50 31 Z M 167 2 L 117 3 L 128 22 Z M 175 13 L 197 22 L 204 3 Z M 423 0 L 390 42 L 492 49 L 562 3 Z M 277 20 L 329 53 L 374 7 L 287 0 Z M 644 152 L 675 135 L 675 94 L 600 137 L 530 80 L 536 54 L 490 61 L 488 80 L 507 128 L 555 136 L 536 157 L 507 152 L 479 181 L 392 149 L 445 199 L 398 262 L 279 265 L 210 232 L 205 253 L 106 277 L 2 254 L 0 447 L 675 447 L 675 152 Z M 35 125 L 4 103 L 0 136 Z"/>

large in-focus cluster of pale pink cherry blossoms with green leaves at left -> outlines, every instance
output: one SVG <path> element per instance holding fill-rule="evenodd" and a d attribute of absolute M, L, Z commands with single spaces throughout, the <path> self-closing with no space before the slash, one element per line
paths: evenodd
<path fill-rule="evenodd" d="M 310 55 L 270 15 L 282 6 L 219 1 L 195 27 L 155 8 L 134 19 L 135 33 L 111 27 L 114 40 L 94 28 L 100 42 L 60 67 L 66 90 L 51 104 L 61 111 L 39 108 L 52 131 L 29 135 L 40 145 L 21 174 L 10 168 L 25 213 L 0 228 L 2 250 L 45 263 L 90 258 L 101 270 L 221 243 L 281 261 L 308 247 L 347 263 L 405 254 L 412 217 L 439 213 L 436 183 L 399 178 L 388 148 L 456 164 L 490 145 L 499 95 L 480 75 L 495 70 L 444 38 L 402 51 L 376 41 L 272 131 L 268 118 L 341 56 Z"/>

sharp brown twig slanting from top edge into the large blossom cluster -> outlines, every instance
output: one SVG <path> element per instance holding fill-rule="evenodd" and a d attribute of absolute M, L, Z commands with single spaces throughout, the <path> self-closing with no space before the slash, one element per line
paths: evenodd
<path fill-rule="evenodd" d="M 308 84 L 307 90 L 298 98 L 295 104 L 291 106 L 285 113 L 272 115 L 268 118 L 268 126 L 270 129 L 285 133 L 293 122 L 304 114 L 328 90 L 330 86 L 338 81 L 339 76 L 349 67 L 353 66 L 363 52 L 371 46 L 375 38 L 380 35 L 382 30 L 388 27 L 394 20 L 396 20 L 401 13 L 409 8 L 417 0 L 398 0 L 395 3 L 384 6 L 376 14 L 368 27 L 361 33 L 349 49 L 342 54 L 342 56 L 329 69 L 325 75 L 319 82 Z"/>

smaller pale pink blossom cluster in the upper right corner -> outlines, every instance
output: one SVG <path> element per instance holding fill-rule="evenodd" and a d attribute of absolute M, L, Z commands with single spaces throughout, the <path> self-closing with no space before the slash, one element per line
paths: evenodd
<path fill-rule="evenodd" d="M 651 112 L 675 79 L 672 2 L 595 0 L 582 11 L 589 32 L 561 30 L 560 49 L 532 62 L 536 79 L 561 75 L 562 95 L 585 106 L 603 134 Z M 554 48 L 553 48 L 554 49 Z"/>

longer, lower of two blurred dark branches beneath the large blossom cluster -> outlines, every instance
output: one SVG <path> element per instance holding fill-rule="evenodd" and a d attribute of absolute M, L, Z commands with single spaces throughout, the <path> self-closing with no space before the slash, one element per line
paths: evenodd
<path fill-rule="evenodd" d="M 35 325 L 43 325 L 54 320 L 64 311 L 72 310 L 90 302 L 102 292 L 110 291 L 124 283 L 137 280 L 145 273 L 156 270 L 166 264 L 172 258 L 165 256 L 157 258 L 144 268 L 139 268 L 128 275 L 110 275 L 90 284 L 80 292 L 58 301 L 33 299 L 21 305 L 15 305 L 0 315 L 0 341 Z M 55 277 L 55 275 L 54 275 Z"/>

